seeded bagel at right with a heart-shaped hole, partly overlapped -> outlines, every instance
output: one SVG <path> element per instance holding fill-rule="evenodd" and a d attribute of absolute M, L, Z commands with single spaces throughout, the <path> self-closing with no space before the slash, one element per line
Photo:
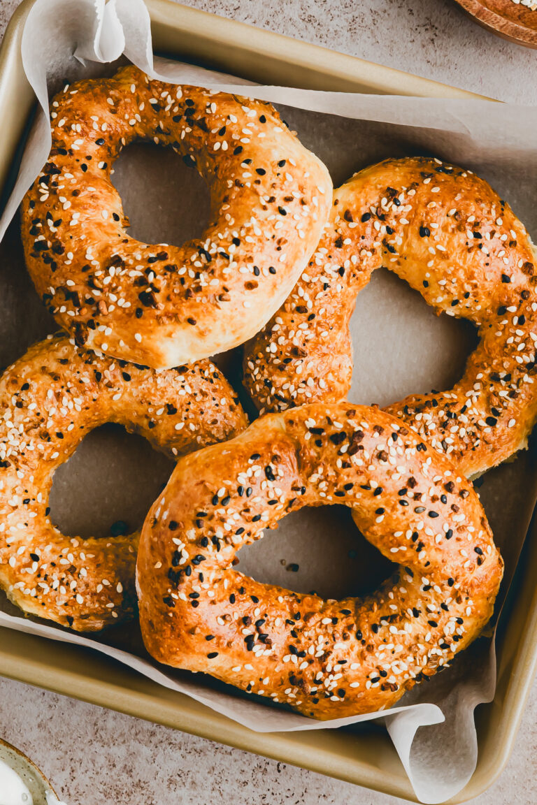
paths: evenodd
<path fill-rule="evenodd" d="M 246 386 L 261 411 L 345 398 L 355 299 L 386 266 L 481 336 L 451 390 L 386 410 L 465 475 L 482 473 L 526 447 L 537 416 L 536 264 L 523 224 L 484 180 L 439 159 L 387 159 L 334 192 L 316 254 L 246 349 Z"/>

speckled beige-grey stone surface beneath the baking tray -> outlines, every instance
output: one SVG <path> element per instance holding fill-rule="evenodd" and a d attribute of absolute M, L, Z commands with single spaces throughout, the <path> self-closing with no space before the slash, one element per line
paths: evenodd
<path fill-rule="evenodd" d="M 190 0 L 190 5 L 502 100 L 537 104 L 537 52 L 497 39 L 451 0 Z M 0 0 L 3 32 L 18 0 Z M 537 683 L 514 753 L 474 805 L 535 805 Z M 395 805 L 202 738 L 0 679 L 0 737 L 69 805 Z"/>

